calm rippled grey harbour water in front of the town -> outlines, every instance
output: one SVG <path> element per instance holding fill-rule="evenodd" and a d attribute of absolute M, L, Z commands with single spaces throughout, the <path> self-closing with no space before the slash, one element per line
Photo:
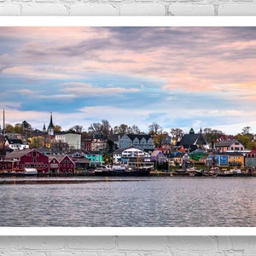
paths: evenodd
<path fill-rule="evenodd" d="M 0 226 L 256 226 L 256 177 L 86 179 L 0 185 Z"/>

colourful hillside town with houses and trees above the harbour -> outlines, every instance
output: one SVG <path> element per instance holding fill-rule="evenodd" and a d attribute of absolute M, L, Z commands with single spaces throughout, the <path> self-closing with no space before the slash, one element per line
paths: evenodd
<path fill-rule="evenodd" d="M 108 133 L 97 132 L 96 124 L 90 126 L 90 132 L 83 132 L 79 125 L 61 131 L 54 125 L 52 113 L 42 131 L 31 129 L 26 121 L 21 126 L 22 132 L 10 132 L 3 123 L 1 173 L 92 175 L 100 166 L 125 165 L 132 157 L 152 166 L 151 174 L 195 176 L 200 169 L 207 170 L 207 175 L 217 169 L 218 175 L 256 172 L 255 135 L 249 133 L 250 127 L 236 137 L 209 128 L 198 132 L 191 128 L 189 133 L 172 129 L 169 135 L 155 123 L 148 134 L 136 125 L 130 131 L 121 132 L 122 125 L 113 131 L 109 124 Z"/>

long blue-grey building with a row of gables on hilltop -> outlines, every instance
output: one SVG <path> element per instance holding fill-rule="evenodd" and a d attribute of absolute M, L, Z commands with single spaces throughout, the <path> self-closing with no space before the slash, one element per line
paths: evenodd
<path fill-rule="evenodd" d="M 139 148 L 147 151 L 154 150 L 153 137 L 147 134 L 125 134 L 119 138 L 119 148 Z"/>

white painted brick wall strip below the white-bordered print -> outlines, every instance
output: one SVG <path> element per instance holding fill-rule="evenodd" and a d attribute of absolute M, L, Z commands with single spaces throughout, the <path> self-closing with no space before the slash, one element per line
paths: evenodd
<path fill-rule="evenodd" d="M 255 236 L 0 236 L 1 256 L 255 256 Z"/>

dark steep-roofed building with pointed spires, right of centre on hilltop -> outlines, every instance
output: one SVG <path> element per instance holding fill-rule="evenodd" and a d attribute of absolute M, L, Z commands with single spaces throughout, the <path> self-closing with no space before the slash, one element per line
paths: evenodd
<path fill-rule="evenodd" d="M 202 131 L 200 130 L 199 133 L 195 133 L 193 128 L 190 129 L 189 134 L 184 134 L 180 142 L 177 143 L 177 147 L 180 146 L 183 146 L 186 152 L 192 152 L 196 149 L 209 149 L 209 145 Z"/>

